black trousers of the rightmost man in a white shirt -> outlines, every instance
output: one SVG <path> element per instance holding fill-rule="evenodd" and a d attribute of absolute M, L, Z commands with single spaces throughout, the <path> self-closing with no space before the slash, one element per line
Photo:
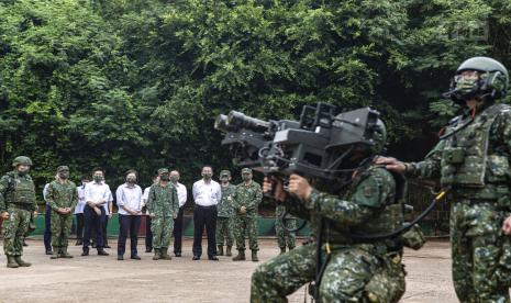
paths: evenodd
<path fill-rule="evenodd" d="M 193 209 L 193 256 L 202 255 L 202 233 L 208 236 L 208 257 L 216 256 L 216 205 L 200 206 Z"/>

